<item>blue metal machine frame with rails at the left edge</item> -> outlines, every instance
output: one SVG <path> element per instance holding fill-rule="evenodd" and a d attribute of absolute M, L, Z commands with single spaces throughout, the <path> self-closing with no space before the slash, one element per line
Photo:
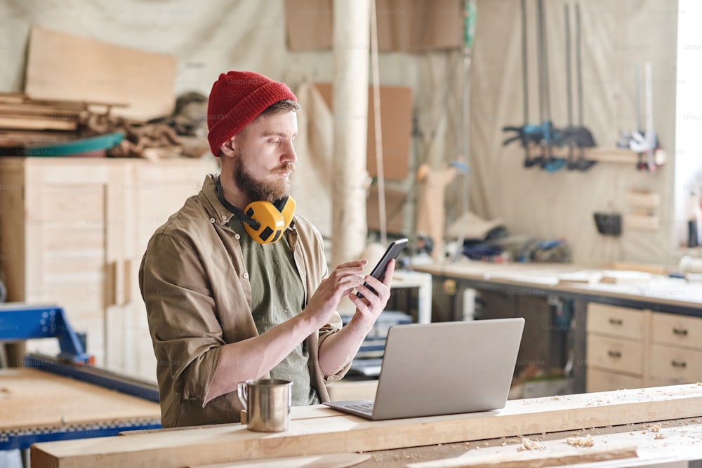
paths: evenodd
<path fill-rule="evenodd" d="M 155 385 L 91 366 L 91 356 L 86 353 L 81 337 L 72 328 L 61 307 L 25 305 L 18 302 L 0 304 L 0 342 L 36 338 L 58 339 L 60 353 L 55 358 L 28 354 L 25 356 L 25 367 L 71 377 L 149 401 L 159 401 L 158 388 Z M 129 430 L 160 428 L 160 420 L 136 420 L 0 430 L 0 450 L 23 450 L 37 442 L 116 436 Z"/>

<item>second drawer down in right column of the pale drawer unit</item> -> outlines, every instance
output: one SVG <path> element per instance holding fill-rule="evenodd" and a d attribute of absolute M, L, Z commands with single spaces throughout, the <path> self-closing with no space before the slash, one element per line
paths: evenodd
<path fill-rule="evenodd" d="M 702 380 L 702 351 L 665 345 L 651 346 L 651 378 L 670 383 Z"/>

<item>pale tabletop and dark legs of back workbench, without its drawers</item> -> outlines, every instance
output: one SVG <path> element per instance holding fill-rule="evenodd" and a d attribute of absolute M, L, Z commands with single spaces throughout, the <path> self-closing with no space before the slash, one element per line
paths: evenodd
<path fill-rule="evenodd" d="M 541 298 L 544 302 L 548 302 L 550 298 L 572 301 L 572 323 L 576 326 L 564 328 L 572 335 L 567 340 L 571 341 L 574 352 L 571 356 L 571 375 L 574 377 L 573 390 L 576 393 L 585 392 L 588 304 L 702 317 L 702 283 L 670 278 L 663 274 L 650 274 L 645 281 L 607 283 L 585 280 L 589 276 L 596 278 L 598 274 L 614 274 L 613 270 L 585 268 L 565 263 L 490 263 L 465 260 L 416 265 L 413 268 L 432 274 L 435 288 L 437 284 L 444 285 L 446 282 L 455 286 L 451 300 L 452 314 L 449 316 L 451 320 L 463 320 L 463 295 L 467 290 L 503 295 L 522 301 L 529 299 L 533 302 L 534 298 Z M 435 315 L 436 312 L 434 311 Z M 550 329 L 557 328 L 552 323 L 542 324 L 547 325 Z M 562 360 L 565 359 L 567 356 L 562 356 Z"/>

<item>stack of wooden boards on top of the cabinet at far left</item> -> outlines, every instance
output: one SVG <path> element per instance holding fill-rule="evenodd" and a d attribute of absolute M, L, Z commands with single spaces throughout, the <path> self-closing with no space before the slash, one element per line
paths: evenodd
<path fill-rule="evenodd" d="M 32 99 L 24 93 L 0 93 L 0 147 L 25 148 L 95 135 L 91 116 L 110 113 L 119 104 Z"/>

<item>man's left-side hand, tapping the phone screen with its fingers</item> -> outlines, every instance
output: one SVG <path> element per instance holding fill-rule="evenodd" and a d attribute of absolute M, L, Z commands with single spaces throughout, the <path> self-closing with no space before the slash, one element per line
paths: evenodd
<path fill-rule="evenodd" d="M 329 323 L 331 316 L 339 306 L 341 298 L 350 294 L 352 290 L 358 288 L 363 282 L 361 274 L 363 274 L 366 263 L 366 260 L 354 260 L 336 267 L 329 276 L 319 283 L 319 287 L 314 291 L 309 302 L 307 302 L 307 307 L 303 310 L 303 314 L 310 315 L 314 323 L 319 324 L 318 328 L 322 328 L 326 323 Z M 374 281 L 378 280 L 374 279 Z M 387 299 L 385 302 L 387 302 Z"/>

